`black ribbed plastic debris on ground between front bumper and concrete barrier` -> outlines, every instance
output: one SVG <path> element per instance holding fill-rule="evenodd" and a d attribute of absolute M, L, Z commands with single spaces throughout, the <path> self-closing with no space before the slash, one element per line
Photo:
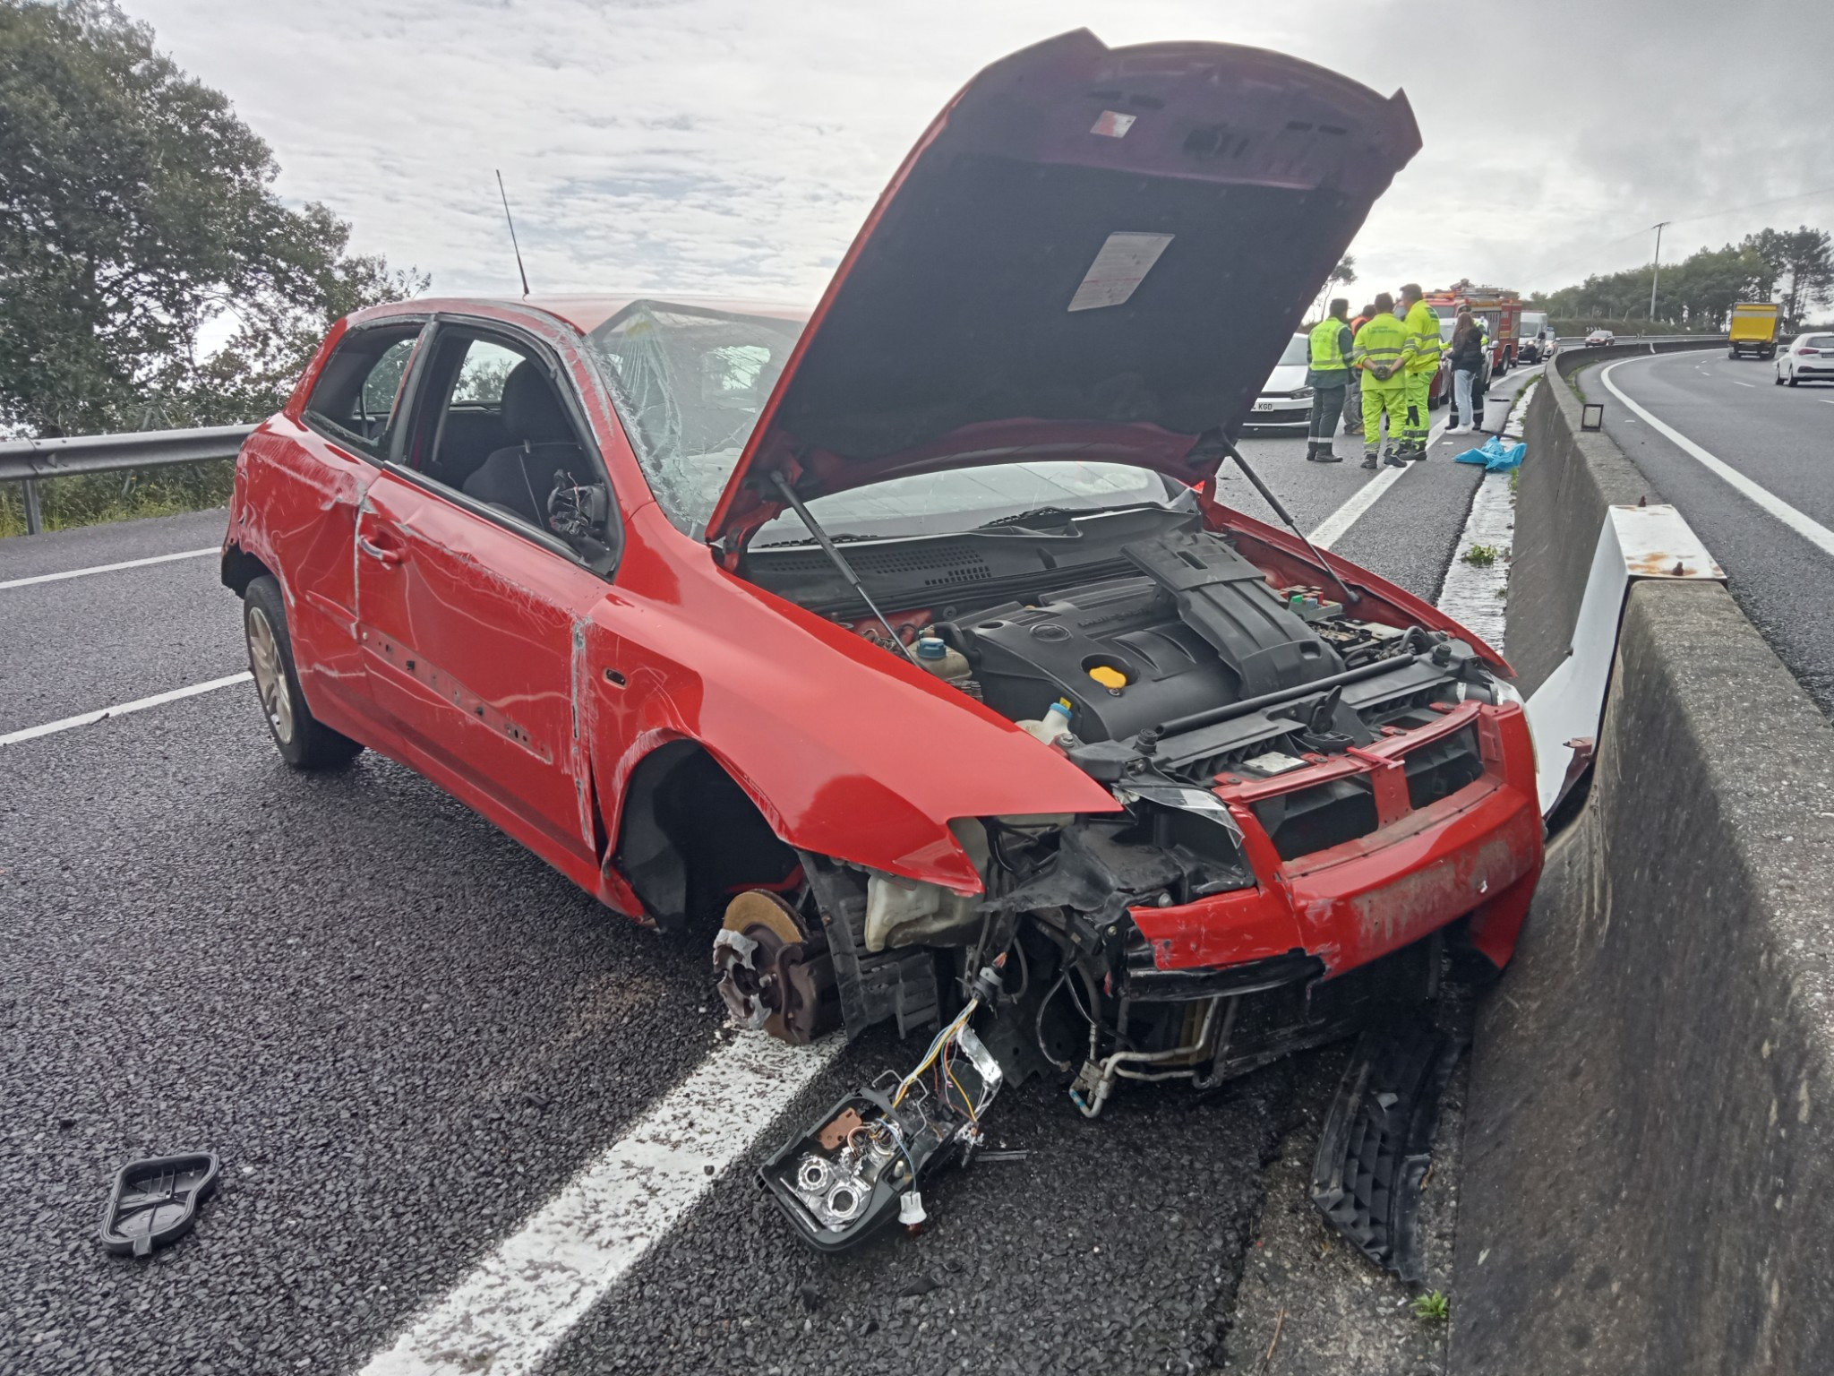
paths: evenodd
<path fill-rule="evenodd" d="M 1364 1257 L 1420 1281 L 1420 1187 L 1440 1095 L 1464 1046 L 1427 1022 L 1357 1038 L 1319 1137 L 1311 1202 Z"/>

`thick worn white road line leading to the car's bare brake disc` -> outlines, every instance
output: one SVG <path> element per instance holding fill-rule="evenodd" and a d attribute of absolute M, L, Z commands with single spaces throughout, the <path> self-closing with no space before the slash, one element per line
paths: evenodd
<path fill-rule="evenodd" d="M 838 1055 L 741 1033 L 359 1376 L 525 1376 Z M 708 1171 L 712 1167 L 712 1171 Z"/>

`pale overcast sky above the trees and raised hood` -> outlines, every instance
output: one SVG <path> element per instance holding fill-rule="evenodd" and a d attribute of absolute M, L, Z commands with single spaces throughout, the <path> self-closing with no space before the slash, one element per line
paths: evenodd
<path fill-rule="evenodd" d="M 1828 0 L 123 6 L 273 145 L 281 194 L 326 202 L 352 248 L 453 294 L 515 290 L 501 167 L 537 292 L 812 301 L 956 88 L 1078 26 L 1405 88 L 1425 150 L 1353 248 L 1368 292 L 1561 286 L 1647 262 L 1656 220 L 1676 222 L 1663 259 L 1764 224 L 1834 227 Z"/>

